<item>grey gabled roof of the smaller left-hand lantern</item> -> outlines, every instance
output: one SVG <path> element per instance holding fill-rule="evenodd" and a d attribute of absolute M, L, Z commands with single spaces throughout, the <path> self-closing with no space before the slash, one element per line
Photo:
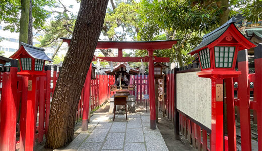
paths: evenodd
<path fill-rule="evenodd" d="M 31 45 L 28 45 L 26 43 L 21 42 L 21 47 L 15 52 L 13 55 L 10 56 L 12 59 L 18 58 L 18 56 L 23 52 L 26 51 L 28 55 L 33 57 L 34 59 L 40 59 L 40 60 L 46 60 L 46 61 L 52 61 L 46 54 L 45 50 L 43 48 L 34 47 Z"/>

